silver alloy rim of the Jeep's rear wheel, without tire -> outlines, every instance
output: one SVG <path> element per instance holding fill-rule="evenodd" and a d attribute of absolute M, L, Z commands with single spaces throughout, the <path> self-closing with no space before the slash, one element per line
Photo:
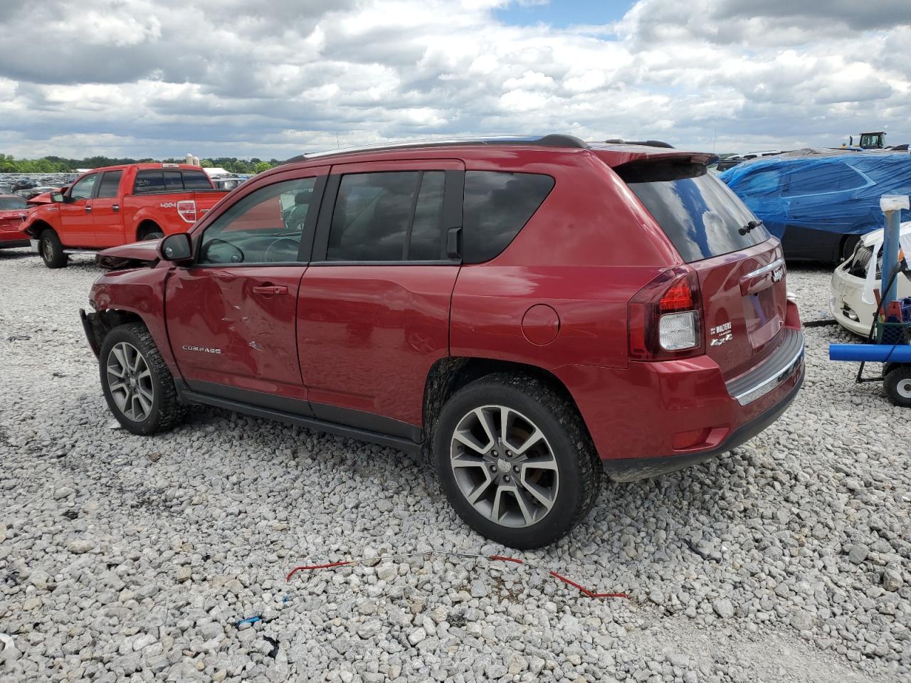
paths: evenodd
<path fill-rule="evenodd" d="M 557 502 L 557 458 L 544 433 L 522 413 L 485 405 L 456 425 L 450 446 L 455 484 L 490 521 L 521 528 Z"/>

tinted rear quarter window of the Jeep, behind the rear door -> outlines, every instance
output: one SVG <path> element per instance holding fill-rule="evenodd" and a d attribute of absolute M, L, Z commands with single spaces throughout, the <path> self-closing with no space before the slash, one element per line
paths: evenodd
<path fill-rule="evenodd" d="M 505 250 L 554 187 L 537 173 L 466 171 L 465 262 L 493 259 Z"/>

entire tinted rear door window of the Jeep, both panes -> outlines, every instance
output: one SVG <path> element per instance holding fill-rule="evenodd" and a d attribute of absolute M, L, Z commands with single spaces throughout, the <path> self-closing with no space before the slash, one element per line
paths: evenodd
<path fill-rule="evenodd" d="M 382 171 L 343 176 L 327 260 L 442 258 L 445 171 Z"/>

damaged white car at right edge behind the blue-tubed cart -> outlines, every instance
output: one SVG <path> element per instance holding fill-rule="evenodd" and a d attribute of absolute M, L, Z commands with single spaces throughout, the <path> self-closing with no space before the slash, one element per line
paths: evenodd
<path fill-rule="evenodd" d="M 902 223 L 899 234 L 904 240 L 911 240 L 911 221 Z M 868 282 L 870 269 L 875 270 L 869 290 L 880 287 L 883 279 L 883 229 L 868 232 L 861 238 L 854 253 L 835 269 L 832 275 L 832 298 L 829 310 L 838 324 L 845 330 L 866 337 L 873 326 L 876 304 L 872 295 L 864 301 L 864 286 Z M 874 250 L 876 251 L 874 258 Z M 907 253 L 907 252 L 906 252 Z M 911 254 L 909 254 L 911 256 Z M 911 297 L 911 278 L 907 273 L 896 276 L 898 298 Z"/>

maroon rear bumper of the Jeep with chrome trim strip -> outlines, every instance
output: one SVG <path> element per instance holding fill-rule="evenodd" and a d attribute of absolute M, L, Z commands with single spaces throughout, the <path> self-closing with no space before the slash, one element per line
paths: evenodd
<path fill-rule="evenodd" d="M 605 470 L 632 481 L 730 451 L 773 423 L 804 381 L 804 335 L 795 326 L 785 333 L 772 355 L 727 381 L 706 355 L 556 373 Z"/>

